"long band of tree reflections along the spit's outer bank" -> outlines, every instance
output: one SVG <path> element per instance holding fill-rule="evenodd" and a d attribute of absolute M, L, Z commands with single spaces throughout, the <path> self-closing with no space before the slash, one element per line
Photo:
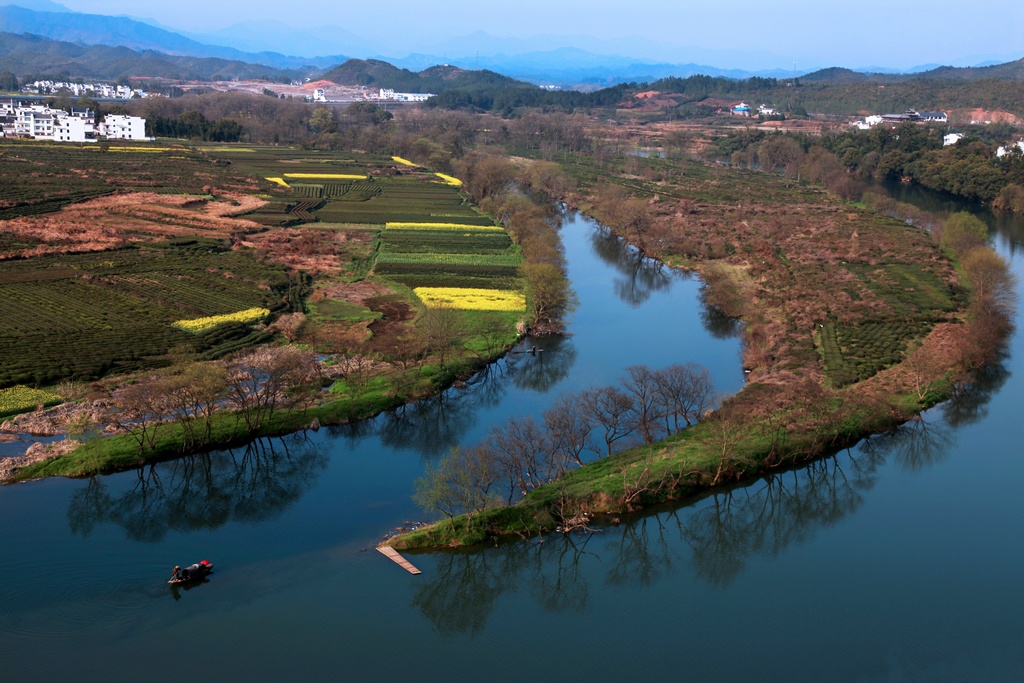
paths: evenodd
<path fill-rule="evenodd" d="M 889 457 L 920 470 L 941 460 L 951 440 L 944 425 L 911 421 L 856 450 L 595 536 L 553 535 L 543 542 L 447 553 L 440 556 L 436 578 L 420 588 L 413 604 L 443 635 L 475 634 L 499 597 L 522 586 L 529 586 L 530 595 L 547 609 L 582 611 L 592 581 L 653 585 L 688 559 L 698 578 L 725 587 L 752 557 L 778 555 L 856 511 Z M 592 559 L 599 561 L 588 561 Z M 599 571 L 602 577 L 596 575 Z"/>

